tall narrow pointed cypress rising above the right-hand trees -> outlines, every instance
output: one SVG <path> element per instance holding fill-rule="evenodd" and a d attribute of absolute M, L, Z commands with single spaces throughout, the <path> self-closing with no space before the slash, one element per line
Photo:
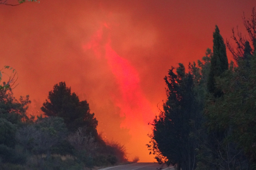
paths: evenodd
<path fill-rule="evenodd" d="M 210 59 L 210 73 L 207 86 L 210 93 L 214 93 L 214 96 L 219 96 L 221 92 L 216 89 L 215 77 L 221 76 L 222 72 L 228 69 L 228 57 L 226 53 L 226 45 L 219 33 L 217 25 L 215 32 L 213 33 L 213 38 L 213 56 Z"/>

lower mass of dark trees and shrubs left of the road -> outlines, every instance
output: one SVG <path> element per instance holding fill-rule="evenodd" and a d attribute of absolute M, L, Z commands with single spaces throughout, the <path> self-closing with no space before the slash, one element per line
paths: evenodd
<path fill-rule="evenodd" d="M 9 82 L 0 86 L 0 169 L 75 170 L 128 161 L 123 145 L 98 134 L 87 101 L 65 82 L 54 85 L 44 117 L 37 118 L 28 116 L 28 96 L 15 99 Z"/>

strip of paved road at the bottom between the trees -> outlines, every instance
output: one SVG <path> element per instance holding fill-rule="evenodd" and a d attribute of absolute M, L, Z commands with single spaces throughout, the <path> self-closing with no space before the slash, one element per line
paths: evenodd
<path fill-rule="evenodd" d="M 161 165 L 158 163 L 135 163 L 135 164 L 128 164 L 128 165 L 122 165 L 122 166 L 113 166 L 113 167 L 104 167 L 99 170 L 157 170 L 159 169 Z M 167 167 L 164 165 L 162 170 L 174 170 L 173 167 Z"/>

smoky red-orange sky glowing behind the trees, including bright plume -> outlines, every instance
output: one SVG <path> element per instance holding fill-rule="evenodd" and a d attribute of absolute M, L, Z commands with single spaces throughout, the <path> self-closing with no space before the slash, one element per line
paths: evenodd
<path fill-rule="evenodd" d="M 215 25 L 231 37 L 243 32 L 255 0 L 87 0 L 0 5 L 0 67 L 18 72 L 16 96 L 42 105 L 66 81 L 86 99 L 107 139 L 129 158 L 154 161 L 145 144 L 147 122 L 166 100 L 164 76 L 212 48 Z M 231 55 L 229 59 L 231 59 Z"/>

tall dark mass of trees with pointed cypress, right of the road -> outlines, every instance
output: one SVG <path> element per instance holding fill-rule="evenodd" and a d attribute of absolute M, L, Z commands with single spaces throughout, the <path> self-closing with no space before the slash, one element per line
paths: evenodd
<path fill-rule="evenodd" d="M 228 63 L 219 28 L 213 51 L 197 64 L 172 67 L 167 100 L 149 134 L 150 154 L 178 170 L 256 169 L 256 13 L 243 18 L 249 40 L 241 33 L 228 42 L 235 63 Z"/>

